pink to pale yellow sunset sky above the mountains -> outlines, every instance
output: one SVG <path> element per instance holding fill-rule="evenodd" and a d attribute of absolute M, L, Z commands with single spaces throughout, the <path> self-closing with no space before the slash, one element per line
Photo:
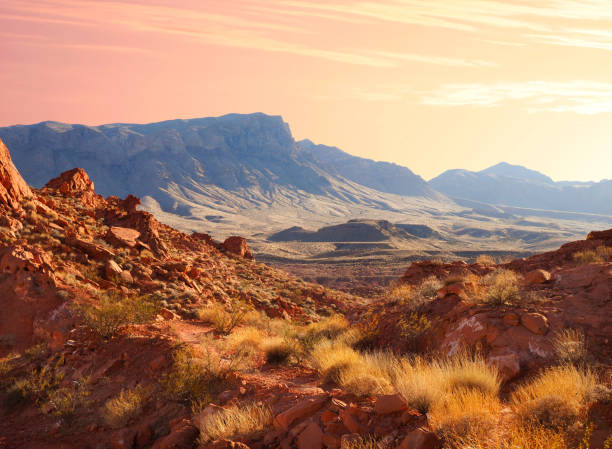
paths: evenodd
<path fill-rule="evenodd" d="M 6 0 L 0 126 L 264 112 L 430 179 L 612 178 L 609 0 Z"/>

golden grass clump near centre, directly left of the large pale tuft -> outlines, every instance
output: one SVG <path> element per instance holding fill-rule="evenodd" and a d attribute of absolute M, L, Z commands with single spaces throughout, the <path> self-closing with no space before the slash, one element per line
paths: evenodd
<path fill-rule="evenodd" d="M 342 344 L 324 340 L 311 352 L 313 366 L 326 381 L 356 395 L 392 393 L 395 358 L 386 353 L 360 353 Z"/>

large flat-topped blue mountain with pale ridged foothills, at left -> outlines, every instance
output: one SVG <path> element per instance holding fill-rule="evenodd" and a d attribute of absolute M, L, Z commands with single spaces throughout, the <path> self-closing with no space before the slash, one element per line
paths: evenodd
<path fill-rule="evenodd" d="M 43 122 L 0 128 L 0 138 L 31 185 L 82 167 L 96 191 L 135 194 L 182 229 L 249 234 L 457 207 L 406 168 L 298 144 L 281 117 L 264 114 L 144 125 Z"/>

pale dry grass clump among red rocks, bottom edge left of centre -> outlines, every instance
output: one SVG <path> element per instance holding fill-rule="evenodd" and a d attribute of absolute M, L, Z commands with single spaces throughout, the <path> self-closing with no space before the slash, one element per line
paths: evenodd
<path fill-rule="evenodd" d="M 272 411 L 267 405 L 235 405 L 206 416 L 200 424 L 200 438 L 206 443 L 218 439 L 252 437 L 262 433 L 272 419 Z"/>

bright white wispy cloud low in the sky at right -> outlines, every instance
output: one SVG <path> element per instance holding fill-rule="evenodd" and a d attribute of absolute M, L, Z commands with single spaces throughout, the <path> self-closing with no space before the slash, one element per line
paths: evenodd
<path fill-rule="evenodd" d="M 429 106 L 497 107 L 521 102 L 531 112 L 612 112 L 612 83 L 594 81 L 528 81 L 523 83 L 447 84 L 425 92 Z"/>

